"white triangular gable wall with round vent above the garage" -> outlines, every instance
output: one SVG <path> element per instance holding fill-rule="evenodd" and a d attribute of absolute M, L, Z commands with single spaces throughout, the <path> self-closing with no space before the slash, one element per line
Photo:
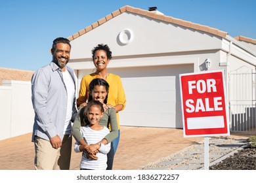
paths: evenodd
<path fill-rule="evenodd" d="M 131 30 L 133 39 L 123 45 L 118 37 L 125 29 Z M 221 47 L 219 37 L 124 12 L 72 40 L 70 58 L 91 59 L 91 50 L 100 43 L 108 44 L 115 57 L 215 50 Z"/>

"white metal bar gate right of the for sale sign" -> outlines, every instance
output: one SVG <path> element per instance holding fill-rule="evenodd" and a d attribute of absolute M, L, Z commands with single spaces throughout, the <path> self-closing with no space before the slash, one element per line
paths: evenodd
<path fill-rule="evenodd" d="M 247 67 L 230 72 L 230 131 L 256 132 L 256 73 Z"/>

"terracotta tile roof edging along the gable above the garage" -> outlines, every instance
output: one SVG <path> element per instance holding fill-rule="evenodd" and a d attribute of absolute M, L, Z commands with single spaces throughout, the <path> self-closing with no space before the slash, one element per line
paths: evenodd
<path fill-rule="evenodd" d="M 89 25 L 88 27 L 85 27 L 85 29 L 81 29 L 81 31 L 78 31 L 77 33 L 74 33 L 74 35 L 68 37 L 68 39 L 70 41 L 76 39 L 77 37 L 80 37 L 81 35 L 95 29 L 96 27 L 108 22 L 109 20 L 111 20 L 112 18 L 118 16 L 119 14 L 122 14 L 123 12 L 131 12 L 134 14 L 140 14 L 143 16 L 147 16 L 149 18 L 153 18 L 156 20 L 161 20 L 163 22 L 168 22 L 171 24 L 176 24 L 176 25 L 181 25 L 183 27 L 188 27 L 191 29 L 196 29 L 199 31 L 203 31 L 206 33 L 211 33 L 213 35 L 217 35 L 219 37 L 226 37 L 226 35 L 228 35 L 228 33 L 224 32 L 224 31 L 219 31 L 219 29 L 215 29 L 212 27 L 209 27 L 207 25 L 200 25 L 200 24 L 194 24 L 192 22 L 188 22 L 185 20 L 181 20 L 178 18 L 173 18 L 172 16 L 166 16 L 164 14 L 158 14 L 154 11 L 149 11 L 149 10 L 143 10 L 140 8 L 134 8 L 134 7 L 130 7 L 128 5 L 119 8 L 118 10 L 112 12 L 111 14 L 109 14 L 108 16 L 105 16 L 104 18 L 98 20 L 97 22 L 95 22 L 94 24 Z"/>

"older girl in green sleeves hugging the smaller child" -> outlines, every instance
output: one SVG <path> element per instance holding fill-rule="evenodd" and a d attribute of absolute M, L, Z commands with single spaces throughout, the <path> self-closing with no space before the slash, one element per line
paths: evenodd
<path fill-rule="evenodd" d="M 99 124 L 103 125 L 105 127 L 109 127 L 111 125 L 111 131 L 102 141 L 98 143 L 108 144 L 114 139 L 117 138 L 118 134 L 118 127 L 117 127 L 117 120 L 116 120 L 116 111 L 114 108 L 109 108 L 106 105 L 106 101 L 108 99 L 108 91 L 109 91 L 109 85 L 106 80 L 103 80 L 101 78 L 95 78 L 91 81 L 89 84 L 89 99 L 88 101 L 99 101 L 102 103 L 104 107 L 104 115 L 102 118 L 100 118 Z M 84 119 L 84 111 L 86 107 L 79 108 L 77 117 L 75 118 L 73 127 L 72 127 L 72 135 L 75 138 L 75 141 L 79 142 L 82 146 L 85 146 L 85 151 L 87 153 L 87 156 L 89 159 L 98 159 L 95 154 L 98 152 L 98 143 L 96 144 L 87 144 L 85 140 L 83 139 L 80 128 L 81 123 L 85 122 L 86 119 Z M 114 148 L 111 143 L 111 149 L 110 152 L 108 152 L 108 167 L 107 170 L 111 170 L 113 166 L 114 161 Z"/>

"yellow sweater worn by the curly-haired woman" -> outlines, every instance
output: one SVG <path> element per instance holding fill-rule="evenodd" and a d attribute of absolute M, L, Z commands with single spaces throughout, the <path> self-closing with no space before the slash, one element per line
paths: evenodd
<path fill-rule="evenodd" d="M 100 78 L 100 76 L 96 75 L 95 73 L 83 76 L 79 90 L 79 97 L 77 98 L 78 106 L 81 103 L 87 102 L 87 100 L 89 99 L 89 84 L 94 78 Z M 120 76 L 109 73 L 106 77 L 106 82 L 108 82 L 108 84 L 110 85 L 108 91 L 108 103 L 113 106 L 121 104 L 123 105 L 123 108 L 125 108 L 125 91 L 123 90 Z M 123 110 L 123 108 L 121 110 Z M 116 113 L 116 118 L 118 129 L 120 129 L 118 112 Z"/>

